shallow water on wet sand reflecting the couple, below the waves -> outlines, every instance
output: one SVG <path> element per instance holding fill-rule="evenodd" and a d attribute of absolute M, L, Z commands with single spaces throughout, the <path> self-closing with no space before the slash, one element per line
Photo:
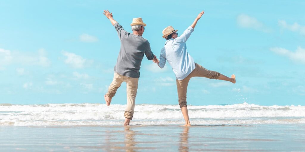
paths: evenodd
<path fill-rule="evenodd" d="M 0 151 L 304 151 L 305 124 L 0 126 Z"/>

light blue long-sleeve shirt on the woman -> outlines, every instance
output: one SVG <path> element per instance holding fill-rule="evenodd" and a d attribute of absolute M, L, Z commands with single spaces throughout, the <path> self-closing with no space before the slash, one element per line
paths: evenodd
<path fill-rule="evenodd" d="M 163 68 L 167 61 L 173 68 L 178 80 L 186 78 L 196 67 L 194 59 L 186 50 L 185 44 L 193 31 L 194 29 L 189 26 L 181 36 L 167 40 L 160 52 L 159 67 Z"/>

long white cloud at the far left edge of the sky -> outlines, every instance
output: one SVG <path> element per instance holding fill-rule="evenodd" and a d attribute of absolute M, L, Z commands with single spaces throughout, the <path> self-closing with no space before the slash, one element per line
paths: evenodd
<path fill-rule="evenodd" d="M 5 65 L 22 64 L 22 65 L 38 65 L 48 67 L 51 61 L 46 57 L 44 49 L 38 50 L 36 53 L 23 53 L 19 51 L 10 51 L 0 48 L 0 69 L 5 69 Z"/>

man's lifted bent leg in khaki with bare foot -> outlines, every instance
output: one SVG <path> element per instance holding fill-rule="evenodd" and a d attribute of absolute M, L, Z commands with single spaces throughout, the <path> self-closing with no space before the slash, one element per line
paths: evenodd
<path fill-rule="evenodd" d="M 113 81 L 109 85 L 108 92 L 104 95 L 106 105 L 110 105 L 112 97 L 117 93 L 117 89 L 120 88 L 123 82 L 123 76 L 114 72 Z"/>

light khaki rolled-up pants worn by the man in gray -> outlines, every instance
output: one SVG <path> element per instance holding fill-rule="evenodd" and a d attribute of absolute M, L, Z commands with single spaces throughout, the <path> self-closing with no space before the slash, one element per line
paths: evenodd
<path fill-rule="evenodd" d="M 122 82 L 126 82 L 126 91 L 127 91 L 127 108 L 124 113 L 125 118 L 132 119 L 135 109 L 135 97 L 137 96 L 137 89 L 138 89 L 138 81 L 139 78 L 131 78 L 126 77 L 124 75 L 117 74 L 114 72 L 113 81 L 111 82 L 108 92 L 106 93 L 107 96 L 112 98 L 117 89 L 121 86 Z"/>

